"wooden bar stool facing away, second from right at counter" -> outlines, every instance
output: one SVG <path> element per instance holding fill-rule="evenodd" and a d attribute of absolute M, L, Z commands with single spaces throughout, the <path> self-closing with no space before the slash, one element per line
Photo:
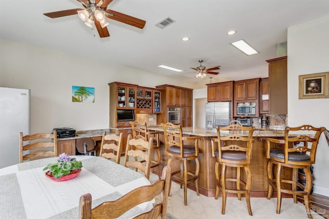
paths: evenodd
<path fill-rule="evenodd" d="M 246 202 L 249 215 L 252 216 L 250 206 L 250 190 L 251 190 L 251 170 L 250 158 L 252 149 L 252 134 L 255 127 L 244 127 L 237 124 L 232 124 L 226 127 L 216 127 L 217 138 L 211 141 L 212 156 L 216 158 L 215 175 L 216 175 L 216 193 L 215 199 L 218 198 L 218 192 L 222 187 L 222 214 L 225 214 L 226 197 L 228 193 L 237 194 L 237 198 L 241 200 L 241 194 L 246 195 Z M 218 142 L 218 149 L 215 148 L 215 142 Z M 220 165 L 222 171 L 220 174 Z M 236 168 L 236 178 L 226 177 L 226 168 Z M 246 172 L 246 182 L 241 180 L 241 169 Z M 221 176 L 221 177 L 220 177 Z M 235 182 L 236 188 L 227 188 L 226 182 Z M 244 188 L 241 188 L 241 185 Z"/>

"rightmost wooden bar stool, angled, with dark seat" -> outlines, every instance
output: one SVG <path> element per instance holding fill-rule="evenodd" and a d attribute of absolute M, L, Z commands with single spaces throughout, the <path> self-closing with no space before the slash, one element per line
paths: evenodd
<path fill-rule="evenodd" d="M 267 199 L 270 199 L 273 188 L 278 191 L 277 214 L 280 213 L 283 192 L 292 194 L 295 203 L 297 203 L 296 195 L 303 195 L 307 216 L 312 218 L 309 208 L 309 195 L 313 181 L 310 165 L 315 163 L 319 137 L 324 130 L 324 127 L 315 128 L 311 125 L 302 125 L 299 127 L 286 127 L 283 140 L 269 137 L 260 138 L 260 140 L 266 141 L 266 157 L 269 159 L 267 165 L 269 182 Z M 281 147 L 271 149 L 272 145 L 279 145 Z M 277 165 L 276 178 L 273 176 L 274 164 Z M 286 180 L 281 178 L 282 167 L 293 168 L 291 179 Z M 305 172 L 305 186 L 297 182 L 298 169 L 303 169 Z M 283 188 L 283 183 L 291 184 L 291 189 Z M 301 188 L 302 191 L 297 191 L 297 187 Z"/>

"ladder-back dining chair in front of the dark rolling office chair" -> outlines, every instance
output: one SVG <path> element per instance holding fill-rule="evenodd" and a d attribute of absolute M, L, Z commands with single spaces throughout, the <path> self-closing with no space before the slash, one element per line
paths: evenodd
<path fill-rule="evenodd" d="M 115 163 L 120 164 L 122 150 L 122 133 L 116 134 L 106 134 L 106 131 L 102 136 L 102 143 L 100 148 L 100 156 L 113 160 Z"/>

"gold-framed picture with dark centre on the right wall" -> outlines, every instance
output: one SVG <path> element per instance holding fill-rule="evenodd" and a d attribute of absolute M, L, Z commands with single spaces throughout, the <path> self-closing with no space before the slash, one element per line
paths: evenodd
<path fill-rule="evenodd" d="M 328 98 L 329 72 L 299 75 L 299 98 Z"/>

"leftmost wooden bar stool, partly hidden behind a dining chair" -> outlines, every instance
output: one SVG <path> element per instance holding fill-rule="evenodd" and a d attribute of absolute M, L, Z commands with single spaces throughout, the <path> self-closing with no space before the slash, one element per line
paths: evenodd
<path fill-rule="evenodd" d="M 153 138 L 153 144 L 151 148 L 151 168 L 157 167 L 158 176 L 160 178 L 160 141 L 159 141 L 159 132 L 148 130 L 147 123 L 140 123 L 138 121 L 130 122 L 133 130 L 133 138 L 138 139 L 142 138 L 145 141 L 148 141 L 150 137 Z M 155 153 L 154 153 L 155 152 Z M 154 156 L 156 154 L 156 156 Z M 155 157 L 153 159 L 153 157 Z"/>

